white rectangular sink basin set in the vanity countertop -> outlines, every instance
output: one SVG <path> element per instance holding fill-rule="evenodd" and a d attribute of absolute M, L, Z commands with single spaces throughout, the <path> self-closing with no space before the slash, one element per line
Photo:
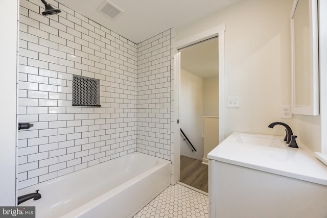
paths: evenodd
<path fill-rule="evenodd" d="M 268 135 L 239 134 L 235 142 L 244 144 L 254 144 L 255 146 L 273 147 L 285 149 L 284 142 L 281 139 Z"/>

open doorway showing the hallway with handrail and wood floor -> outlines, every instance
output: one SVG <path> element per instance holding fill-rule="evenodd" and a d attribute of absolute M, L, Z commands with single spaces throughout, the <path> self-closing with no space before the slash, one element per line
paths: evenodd
<path fill-rule="evenodd" d="M 207 153 L 219 143 L 218 37 L 179 52 L 180 182 L 207 192 Z"/>

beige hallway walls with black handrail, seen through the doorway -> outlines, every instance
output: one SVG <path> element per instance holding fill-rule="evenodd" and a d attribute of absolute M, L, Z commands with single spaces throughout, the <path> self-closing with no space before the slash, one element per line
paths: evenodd
<path fill-rule="evenodd" d="M 180 137 L 180 154 L 202 160 L 208 153 L 203 153 L 203 116 L 218 116 L 218 78 L 202 79 L 181 69 L 180 82 L 180 128 L 197 150 L 192 152 L 188 142 Z"/>

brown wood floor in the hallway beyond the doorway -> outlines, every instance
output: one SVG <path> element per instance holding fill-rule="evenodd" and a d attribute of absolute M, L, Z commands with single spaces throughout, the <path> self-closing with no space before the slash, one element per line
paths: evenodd
<path fill-rule="evenodd" d="M 208 192 L 208 165 L 180 156 L 180 182 Z"/>

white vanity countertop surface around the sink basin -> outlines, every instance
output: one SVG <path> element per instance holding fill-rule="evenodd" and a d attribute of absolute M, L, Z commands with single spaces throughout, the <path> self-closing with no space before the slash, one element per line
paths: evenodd
<path fill-rule="evenodd" d="M 285 143 L 285 148 L 281 149 L 236 142 L 236 138 L 240 134 L 256 135 L 234 132 L 221 142 L 219 146 L 209 152 L 208 158 L 272 174 L 327 185 L 327 166 L 319 161 L 315 157 L 315 154 L 299 140 L 296 140 L 298 149 L 289 148 L 285 142 L 283 142 Z M 277 137 L 281 141 L 284 138 L 282 136 L 271 135 L 268 137 Z"/>

